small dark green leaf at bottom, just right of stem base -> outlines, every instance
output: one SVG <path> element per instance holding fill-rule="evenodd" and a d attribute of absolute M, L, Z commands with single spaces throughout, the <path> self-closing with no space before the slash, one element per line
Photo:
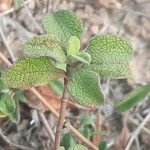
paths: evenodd
<path fill-rule="evenodd" d="M 70 146 L 75 145 L 75 140 L 70 133 L 66 133 L 62 138 L 62 146 L 65 147 L 65 149 L 68 149 Z"/>

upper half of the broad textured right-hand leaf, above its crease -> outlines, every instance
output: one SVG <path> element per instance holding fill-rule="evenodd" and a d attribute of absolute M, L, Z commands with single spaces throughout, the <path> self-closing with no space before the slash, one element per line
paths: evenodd
<path fill-rule="evenodd" d="M 118 35 L 95 36 L 90 40 L 87 52 L 94 64 L 126 63 L 133 56 L 131 43 Z"/>

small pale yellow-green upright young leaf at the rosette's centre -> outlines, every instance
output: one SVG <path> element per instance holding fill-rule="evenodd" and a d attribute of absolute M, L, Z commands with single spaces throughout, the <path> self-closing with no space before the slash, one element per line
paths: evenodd
<path fill-rule="evenodd" d="M 74 56 L 80 50 L 80 40 L 76 36 L 71 36 L 68 42 L 67 54 Z"/>

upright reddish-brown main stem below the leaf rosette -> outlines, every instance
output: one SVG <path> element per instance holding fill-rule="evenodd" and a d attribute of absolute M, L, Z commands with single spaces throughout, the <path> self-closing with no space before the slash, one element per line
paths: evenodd
<path fill-rule="evenodd" d="M 56 135 L 55 135 L 54 150 L 60 149 L 61 133 L 62 133 L 64 121 L 65 121 L 67 101 L 69 98 L 68 92 L 67 92 L 67 84 L 68 84 L 68 79 L 64 78 L 64 92 L 61 98 L 61 109 L 59 113 L 59 120 L 58 120 Z"/>

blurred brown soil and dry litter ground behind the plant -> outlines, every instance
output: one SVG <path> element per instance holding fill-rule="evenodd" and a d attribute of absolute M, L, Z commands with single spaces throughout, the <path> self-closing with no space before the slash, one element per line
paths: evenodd
<path fill-rule="evenodd" d="M 106 135 L 99 137 L 108 143 L 109 150 L 125 150 L 126 142 L 144 117 L 150 112 L 149 97 L 127 113 L 117 113 L 114 103 L 124 98 L 137 85 L 150 82 L 150 1 L 149 0 L 0 0 L 0 52 L 11 62 L 22 57 L 22 46 L 33 36 L 42 34 L 40 20 L 44 13 L 60 9 L 75 12 L 83 21 L 84 36 L 82 49 L 96 34 L 121 34 L 127 37 L 134 47 L 134 58 L 130 62 L 132 80 L 103 80 L 102 88 L 106 102 L 99 112 L 100 129 Z M 0 60 L 0 66 L 6 66 Z M 60 108 L 59 95 L 49 86 L 37 88 L 49 103 Z M 31 93 L 25 92 L 28 104 L 21 105 L 20 123 L 13 124 L 9 119 L 0 119 L 0 127 L 14 143 L 30 145 L 33 149 L 51 149 L 51 139 L 40 123 L 37 110 L 46 110 Z M 80 116 L 89 113 L 95 118 L 96 111 L 83 110 L 70 104 L 67 117 L 76 126 Z M 36 106 L 36 108 L 35 108 Z M 46 112 L 47 120 L 55 131 L 56 120 Z M 125 119 L 126 121 L 124 121 Z M 125 122 L 125 123 L 124 123 Z M 0 150 L 15 150 L 0 138 Z M 150 122 L 136 137 L 131 150 L 150 150 Z"/>

